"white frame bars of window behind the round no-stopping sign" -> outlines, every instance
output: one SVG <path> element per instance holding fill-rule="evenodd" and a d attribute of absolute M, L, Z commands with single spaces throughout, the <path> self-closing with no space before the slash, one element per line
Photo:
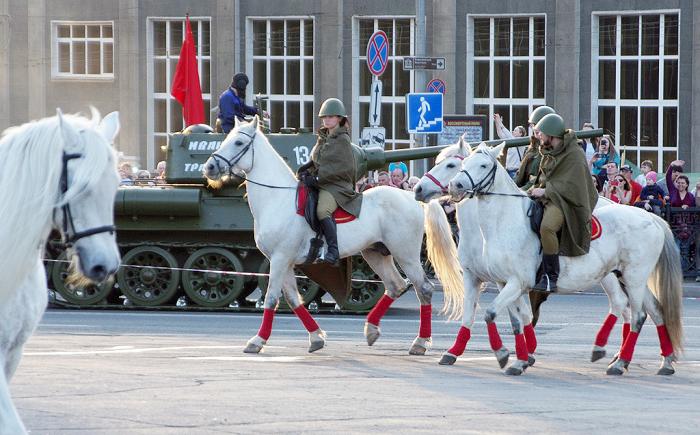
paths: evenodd
<path fill-rule="evenodd" d="M 359 126 L 364 126 L 368 124 L 367 119 L 360 119 L 360 104 L 368 104 L 371 102 L 371 97 L 370 93 L 371 91 L 368 89 L 367 90 L 367 95 L 361 95 L 360 93 L 360 68 L 367 68 L 367 52 L 366 48 L 367 47 L 360 47 L 360 20 L 373 20 L 374 21 L 374 29 L 375 31 L 378 29 L 378 21 L 380 20 L 392 20 L 392 38 L 390 39 L 390 42 L 392 44 L 392 50 L 388 54 L 388 60 L 387 62 L 394 62 L 395 67 L 391 69 L 392 73 L 392 88 L 391 89 L 382 89 L 382 106 L 385 104 L 391 104 L 392 105 L 392 127 L 393 131 L 391 134 L 387 132 L 387 137 L 391 137 L 391 140 L 387 139 L 385 144 L 384 144 L 384 149 L 385 150 L 395 150 L 395 149 L 405 149 L 405 148 L 414 148 L 415 147 L 415 135 L 414 134 L 409 134 L 408 139 L 396 139 L 396 134 L 395 132 L 400 129 L 400 128 L 406 128 L 405 125 L 403 126 L 397 126 L 396 119 L 397 119 L 397 110 L 396 110 L 396 104 L 403 104 L 405 106 L 406 104 L 406 97 L 405 95 L 396 95 L 394 96 L 393 94 L 395 93 L 396 90 L 396 68 L 401 68 L 403 71 L 403 59 L 405 57 L 411 57 L 415 56 L 416 54 L 416 43 L 415 43 L 415 35 L 416 35 L 416 16 L 415 15 L 353 15 L 352 17 L 352 99 L 353 99 L 353 104 L 352 104 L 352 119 L 354 120 L 354 125 L 357 125 L 358 128 L 354 128 L 352 131 L 352 141 L 354 143 L 359 143 L 360 141 L 360 133 L 362 128 L 359 128 Z M 396 28 L 396 20 L 410 20 L 410 42 L 409 42 L 409 55 L 392 55 L 391 53 L 396 52 L 396 41 L 395 41 L 395 33 L 393 30 Z M 386 71 L 382 74 L 382 76 L 386 74 Z M 380 76 L 380 77 L 382 77 Z M 416 92 L 416 83 L 415 83 L 415 70 L 410 70 L 409 71 L 409 92 Z M 402 114 L 405 114 L 406 109 L 405 107 L 401 111 Z M 382 124 L 385 124 L 384 120 L 382 120 Z M 382 125 L 382 127 L 385 127 L 385 125 Z M 386 127 L 385 127 L 386 128 Z M 400 148 L 397 148 L 398 145 L 405 145 Z"/>

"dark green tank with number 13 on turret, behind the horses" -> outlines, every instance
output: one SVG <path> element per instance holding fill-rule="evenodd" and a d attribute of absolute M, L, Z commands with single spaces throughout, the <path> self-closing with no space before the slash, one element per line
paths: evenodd
<path fill-rule="evenodd" d="M 578 133 L 581 137 L 600 136 L 602 130 Z M 267 137 L 293 170 L 308 161 L 316 142 L 316 136 L 308 131 L 287 130 L 268 133 Z M 208 126 L 174 134 L 166 150 L 165 184 L 119 189 L 115 224 L 122 265 L 114 281 L 75 287 L 66 283 L 66 262 L 46 263 L 51 288 L 64 304 L 261 308 L 264 295 L 260 290 L 267 287 L 269 262 L 255 247 L 245 189 L 234 180 L 213 190 L 202 176 L 204 162 L 224 138 Z M 506 143 L 521 146 L 528 141 L 519 138 Z M 390 162 L 434 157 L 443 148 L 384 151 L 355 146 L 358 175 Z M 46 257 L 65 260 L 60 242 L 49 243 Z M 345 259 L 337 268 L 311 265 L 299 267 L 298 272 L 310 278 L 299 280 L 299 291 L 312 310 L 334 307 L 333 303 L 324 304 L 322 296 L 328 292 L 341 310 L 364 312 L 384 291 L 373 282 L 378 277 L 361 256 Z M 256 289 L 260 289 L 259 296 L 251 299 Z"/>

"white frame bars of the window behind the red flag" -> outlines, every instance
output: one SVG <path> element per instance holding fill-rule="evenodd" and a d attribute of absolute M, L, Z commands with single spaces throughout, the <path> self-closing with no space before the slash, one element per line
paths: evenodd
<path fill-rule="evenodd" d="M 186 17 L 161 17 L 161 16 L 152 16 L 152 17 L 147 17 L 146 18 L 146 58 L 147 58 L 147 66 L 146 66 L 146 131 L 147 131 L 147 148 L 146 148 L 146 167 L 148 168 L 155 168 L 156 165 L 156 150 L 154 148 L 155 146 L 155 138 L 156 137 L 162 137 L 167 138 L 170 136 L 170 134 L 173 133 L 171 131 L 172 128 L 172 123 L 171 123 L 171 107 L 172 104 L 180 104 L 173 96 L 171 95 L 171 86 L 173 82 L 173 74 L 174 74 L 174 69 L 172 70 L 171 73 L 171 68 L 170 62 L 174 62 L 174 64 L 177 66 L 177 62 L 180 59 L 180 55 L 178 54 L 177 56 L 171 55 L 169 52 L 169 47 L 170 47 L 170 23 L 171 22 L 181 22 L 182 23 L 182 37 L 184 40 L 185 37 L 185 20 Z M 209 23 L 209 55 L 200 55 L 199 53 L 201 52 L 201 47 L 202 47 L 202 32 L 199 31 L 201 28 L 199 23 L 207 21 Z M 153 31 L 154 31 L 154 24 L 156 22 L 167 22 L 166 24 L 166 36 L 165 36 L 165 52 L 166 54 L 163 56 L 156 56 L 154 53 L 154 47 L 153 47 Z M 211 41 L 212 41 L 212 17 L 208 16 L 197 16 L 197 17 L 190 17 L 190 23 L 192 22 L 197 22 L 197 41 L 196 46 L 197 46 L 197 70 L 199 73 L 199 80 L 200 82 L 203 81 L 202 79 L 202 66 L 203 66 L 203 61 L 208 60 L 209 61 L 209 92 L 205 93 L 202 92 L 202 100 L 205 102 L 205 107 L 206 107 L 206 102 L 209 102 L 209 113 L 205 114 L 206 119 L 208 119 L 209 124 L 211 124 L 212 121 L 212 112 L 211 112 L 211 90 L 212 90 L 212 71 L 214 71 L 213 65 L 212 65 L 212 56 L 211 56 Z M 180 42 L 182 44 L 182 42 Z M 178 47 L 178 50 L 181 49 L 182 45 Z M 163 59 L 166 62 L 166 68 L 165 68 L 165 92 L 155 92 L 154 91 L 154 80 L 155 80 L 155 71 L 154 71 L 154 65 L 155 61 L 158 59 Z M 201 85 L 201 83 L 200 83 Z M 166 125 L 166 131 L 165 132 L 156 132 L 155 131 L 155 102 L 156 100 L 165 100 L 166 101 L 166 119 L 165 119 L 165 125 Z M 218 104 L 218 102 L 217 102 Z M 183 120 L 183 126 L 184 126 L 184 120 Z"/>

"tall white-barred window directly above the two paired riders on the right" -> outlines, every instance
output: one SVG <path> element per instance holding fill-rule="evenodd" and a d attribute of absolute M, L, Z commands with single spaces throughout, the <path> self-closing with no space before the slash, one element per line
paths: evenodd
<path fill-rule="evenodd" d="M 488 137 L 503 124 L 527 128 L 530 112 L 545 104 L 545 17 L 468 17 L 467 113 L 486 115 Z"/>

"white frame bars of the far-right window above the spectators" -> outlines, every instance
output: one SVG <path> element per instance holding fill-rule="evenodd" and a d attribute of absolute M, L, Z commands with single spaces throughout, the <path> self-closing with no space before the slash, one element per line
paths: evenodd
<path fill-rule="evenodd" d="M 678 54 L 667 55 L 664 52 L 665 48 L 665 15 L 675 14 L 678 17 Z M 614 55 L 600 55 L 600 18 L 603 16 L 615 16 L 615 54 Z M 642 17 L 644 16 L 658 16 L 659 17 L 659 52 L 655 55 L 649 54 L 639 54 L 642 49 Z M 635 55 L 622 55 L 622 29 L 621 21 L 622 17 L 638 17 L 638 54 Z M 658 171 L 664 171 L 667 163 L 664 159 L 664 155 L 669 152 L 675 152 L 676 158 L 678 157 L 679 151 L 679 125 L 680 125 L 680 88 L 678 88 L 676 93 L 676 99 L 666 99 L 664 98 L 664 76 L 665 69 L 663 68 L 665 60 L 676 60 L 678 65 L 678 78 L 680 78 L 680 53 L 682 50 L 682 38 L 681 38 L 681 10 L 680 9 L 650 9 L 643 11 L 592 11 L 591 12 L 591 122 L 598 126 L 599 116 L 598 112 L 601 107 L 614 108 L 615 110 L 615 127 L 612 131 L 611 136 L 614 138 L 615 148 L 617 152 L 622 155 L 622 144 L 620 144 L 620 109 L 621 108 L 635 108 L 637 109 L 637 131 L 636 138 L 637 143 L 634 145 L 626 145 L 625 152 L 632 151 L 634 153 L 634 158 L 632 162 L 640 164 L 640 155 L 643 152 L 656 151 L 656 165 L 658 166 Z M 614 60 L 615 61 L 615 98 L 600 98 L 599 93 L 599 62 L 601 60 Z M 620 64 L 624 60 L 634 60 L 637 61 L 637 98 L 636 99 L 622 99 L 620 97 L 621 93 L 621 74 L 620 74 Z M 645 60 L 656 60 L 659 62 L 659 89 L 658 97 L 656 99 L 642 98 L 642 63 Z M 678 82 L 678 80 L 677 80 Z M 641 117 L 642 110 L 645 107 L 653 107 L 658 109 L 657 112 L 657 146 L 641 146 Z M 664 135 L 664 117 L 663 110 L 667 107 L 676 109 L 676 145 L 666 146 L 663 143 Z M 607 133 L 607 132 L 606 132 Z M 626 154 L 628 155 L 628 154 Z"/>

